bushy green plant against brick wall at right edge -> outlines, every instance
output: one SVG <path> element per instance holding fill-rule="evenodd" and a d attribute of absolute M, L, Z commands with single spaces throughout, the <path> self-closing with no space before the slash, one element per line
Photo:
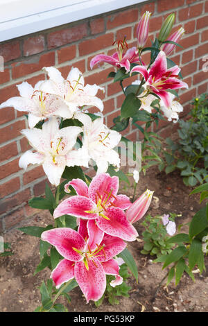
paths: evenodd
<path fill-rule="evenodd" d="M 195 98 L 192 104 L 191 117 L 179 121 L 180 139 L 166 139 L 164 157 L 166 173 L 179 169 L 184 184 L 194 187 L 202 183 L 208 171 L 208 94 Z"/>

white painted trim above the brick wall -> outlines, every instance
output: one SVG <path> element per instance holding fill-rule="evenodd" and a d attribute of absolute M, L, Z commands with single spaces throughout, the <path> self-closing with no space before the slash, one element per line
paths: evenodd
<path fill-rule="evenodd" d="M 146 1 L 0 0 L 0 42 Z"/>

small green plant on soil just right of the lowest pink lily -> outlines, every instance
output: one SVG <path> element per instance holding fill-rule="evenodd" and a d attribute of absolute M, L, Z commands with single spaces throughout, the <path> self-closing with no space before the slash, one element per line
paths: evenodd
<path fill-rule="evenodd" d="M 114 305 L 114 304 L 119 304 L 119 300 L 118 300 L 119 296 L 129 297 L 128 291 L 130 291 L 131 286 L 128 286 L 125 280 L 127 280 L 128 277 L 130 277 L 130 274 L 128 274 L 128 266 L 126 264 L 122 264 L 120 266 L 119 275 L 123 277 L 123 282 L 120 285 L 116 285 L 114 287 L 110 285 L 110 282 L 112 282 L 115 277 L 112 275 L 107 275 L 106 278 L 107 286 L 105 289 L 105 293 L 103 294 L 100 300 L 95 302 L 96 307 L 99 307 L 102 304 L 104 298 L 107 298 L 108 302 Z"/>

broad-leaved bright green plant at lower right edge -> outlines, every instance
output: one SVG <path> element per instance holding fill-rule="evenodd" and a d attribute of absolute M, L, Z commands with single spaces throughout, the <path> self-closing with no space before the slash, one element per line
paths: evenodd
<path fill-rule="evenodd" d="M 191 194 L 200 193 L 200 203 L 208 198 L 208 182 L 200 185 Z M 207 255 L 207 236 L 208 236 L 208 203 L 193 216 L 189 223 L 189 234 L 178 233 L 170 237 L 167 241 L 175 246 L 174 250 L 168 255 L 162 255 L 155 259 L 155 262 L 162 262 L 163 269 L 168 269 L 162 282 L 167 279 L 166 286 L 175 276 L 175 285 L 180 282 L 184 272 L 194 281 L 193 268 L 198 267 L 200 275 L 205 268 L 205 255 Z M 160 284 L 162 284 L 160 282 Z"/>

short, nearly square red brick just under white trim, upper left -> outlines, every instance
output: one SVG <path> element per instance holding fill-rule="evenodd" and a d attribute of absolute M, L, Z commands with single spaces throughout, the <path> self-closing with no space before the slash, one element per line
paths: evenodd
<path fill-rule="evenodd" d="M 24 40 L 23 53 L 25 56 L 33 55 L 44 51 L 44 35 L 29 37 Z"/>

